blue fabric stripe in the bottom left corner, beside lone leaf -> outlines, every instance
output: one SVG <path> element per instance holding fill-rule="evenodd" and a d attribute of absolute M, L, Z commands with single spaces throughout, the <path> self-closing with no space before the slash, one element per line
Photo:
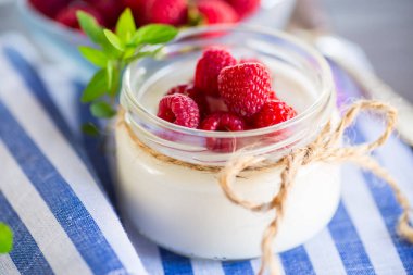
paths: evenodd
<path fill-rule="evenodd" d="M 29 198 L 27 198 L 29 199 Z M 12 228 L 13 250 L 10 257 L 21 274 L 53 274 L 35 239 L 0 191 L 0 221 Z"/>

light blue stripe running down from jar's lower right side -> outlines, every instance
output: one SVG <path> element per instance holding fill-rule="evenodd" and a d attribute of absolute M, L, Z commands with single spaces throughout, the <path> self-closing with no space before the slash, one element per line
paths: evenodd
<path fill-rule="evenodd" d="M 359 234 L 342 202 L 328 224 L 336 248 L 348 274 L 375 274 Z"/>

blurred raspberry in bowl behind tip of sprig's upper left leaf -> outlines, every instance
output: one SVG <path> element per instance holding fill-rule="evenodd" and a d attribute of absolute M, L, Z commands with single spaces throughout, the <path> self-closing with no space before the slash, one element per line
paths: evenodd
<path fill-rule="evenodd" d="M 100 13 L 87 3 L 79 2 L 61 10 L 55 16 L 55 21 L 71 28 L 80 29 L 77 22 L 76 12 L 84 11 L 92 15 L 100 25 L 104 25 L 104 21 Z"/>

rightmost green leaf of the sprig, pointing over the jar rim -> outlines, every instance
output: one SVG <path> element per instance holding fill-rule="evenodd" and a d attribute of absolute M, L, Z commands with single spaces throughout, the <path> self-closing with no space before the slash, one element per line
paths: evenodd
<path fill-rule="evenodd" d="M 132 42 L 134 45 L 157 45 L 165 43 L 175 38 L 178 29 L 164 24 L 150 24 L 140 27 L 133 36 Z"/>

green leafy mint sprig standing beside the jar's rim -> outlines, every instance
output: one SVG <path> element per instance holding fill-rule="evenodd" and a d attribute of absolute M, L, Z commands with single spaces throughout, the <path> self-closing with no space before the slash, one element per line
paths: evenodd
<path fill-rule="evenodd" d="M 80 46 L 78 50 L 86 60 L 99 67 L 86 86 L 80 101 L 90 103 L 93 116 L 110 118 L 116 114 L 115 102 L 124 68 L 137 59 L 155 55 L 164 43 L 175 38 L 178 30 L 164 24 L 137 28 L 129 8 L 121 14 L 114 32 L 102 28 L 95 17 L 83 11 L 77 12 L 77 18 L 84 33 L 96 45 Z M 154 47 L 148 49 L 146 46 Z M 92 129 L 90 125 L 84 128 L 88 132 Z"/>

